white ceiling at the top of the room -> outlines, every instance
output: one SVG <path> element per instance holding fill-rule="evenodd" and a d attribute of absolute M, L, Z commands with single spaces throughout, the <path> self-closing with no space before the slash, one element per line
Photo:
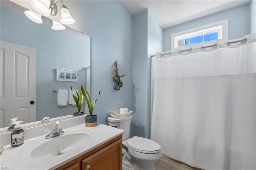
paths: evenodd
<path fill-rule="evenodd" d="M 148 8 L 162 28 L 248 4 L 250 0 L 120 0 L 132 14 Z"/>

